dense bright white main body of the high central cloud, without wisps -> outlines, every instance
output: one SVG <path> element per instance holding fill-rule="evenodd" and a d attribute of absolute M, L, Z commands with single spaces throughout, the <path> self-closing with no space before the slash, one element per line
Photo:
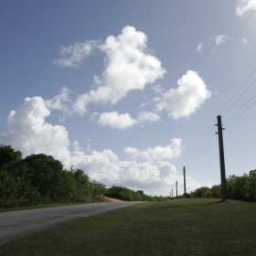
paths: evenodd
<path fill-rule="evenodd" d="M 106 39 L 101 50 L 107 55 L 107 65 L 101 76 L 101 86 L 91 93 L 92 101 L 115 103 L 128 91 L 143 90 L 147 83 L 163 77 L 165 69 L 147 52 L 146 41 L 144 33 L 134 27 L 124 27 L 121 35 Z"/>

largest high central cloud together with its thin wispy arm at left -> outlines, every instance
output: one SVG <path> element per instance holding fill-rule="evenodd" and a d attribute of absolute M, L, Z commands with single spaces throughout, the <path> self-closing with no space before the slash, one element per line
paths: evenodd
<path fill-rule="evenodd" d="M 60 66 L 74 66 L 91 53 L 92 48 L 100 48 L 106 55 L 105 69 L 101 76 L 94 76 L 95 90 L 78 95 L 73 112 L 84 114 L 90 103 L 110 103 L 126 97 L 129 91 L 144 90 L 148 83 L 160 79 L 165 74 L 161 62 L 149 54 L 147 37 L 134 27 L 124 27 L 117 36 L 109 36 L 103 44 L 99 41 L 76 43 L 69 48 L 61 48 L 62 54 L 71 54 L 69 59 L 55 59 Z"/>

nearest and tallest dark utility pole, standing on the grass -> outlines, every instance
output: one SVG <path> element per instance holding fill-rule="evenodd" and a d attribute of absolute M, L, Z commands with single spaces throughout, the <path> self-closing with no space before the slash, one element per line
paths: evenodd
<path fill-rule="evenodd" d="M 217 116 L 218 124 L 218 134 L 219 134 L 219 164 L 220 164 L 220 178 L 221 178 L 221 197 L 222 201 L 227 199 L 227 186 L 226 186 L 226 173 L 225 173 L 225 159 L 224 159 L 224 147 L 223 147 L 223 135 L 221 124 L 221 115 Z"/>

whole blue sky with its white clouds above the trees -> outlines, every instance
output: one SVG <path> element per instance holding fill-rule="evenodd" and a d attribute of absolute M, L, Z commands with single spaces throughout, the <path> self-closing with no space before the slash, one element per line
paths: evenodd
<path fill-rule="evenodd" d="M 0 144 L 108 187 L 183 194 L 183 166 L 188 192 L 220 182 L 221 114 L 226 175 L 248 173 L 255 26 L 255 0 L 5 1 Z"/>

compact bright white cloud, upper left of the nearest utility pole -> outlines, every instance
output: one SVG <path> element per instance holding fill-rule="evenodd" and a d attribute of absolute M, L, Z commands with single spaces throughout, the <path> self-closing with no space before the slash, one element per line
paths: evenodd
<path fill-rule="evenodd" d="M 202 103 L 211 96 L 205 82 L 196 71 L 188 70 L 186 75 L 177 80 L 178 87 L 162 93 L 155 98 L 159 111 L 165 110 L 169 116 L 175 119 L 188 117 L 197 112 Z"/>

